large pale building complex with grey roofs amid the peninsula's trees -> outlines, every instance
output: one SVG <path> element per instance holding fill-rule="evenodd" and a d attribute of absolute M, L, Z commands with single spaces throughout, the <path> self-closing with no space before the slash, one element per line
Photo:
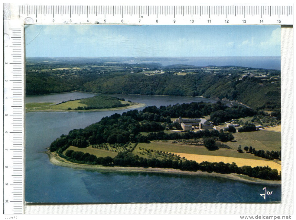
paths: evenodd
<path fill-rule="evenodd" d="M 192 130 L 192 126 L 200 127 L 200 129 L 213 129 L 213 124 L 204 118 L 177 118 L 174 122 L 181 124 L 184 131 Z"/>

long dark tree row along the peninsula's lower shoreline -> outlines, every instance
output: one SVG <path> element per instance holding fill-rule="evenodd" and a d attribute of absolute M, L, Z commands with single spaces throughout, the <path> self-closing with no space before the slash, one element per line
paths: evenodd
<path fill-rule="evenodd" d="M 201 162 L 197 163 L 195 161 L 189 160 L 172 160 L 172 159 L 147 159 L 139 157 L 138 155 L 132 154 L 131 152 L 125 151 L 120 152 L 114 158 L 112 157 L 99 157 L 96 158 L 94 155 L 89 155 L 89 153 L 75 152 L 73 150 L 67 150 L 65 155 L 60 154 L 63 158 L 70 160 L 72 162 L 78 163 L 88 163 L 97 165 L 115 165 L 115 166 L 135 166 L 135 167 L 158 167 L 158 168 L 174 168 L 186 171 L 207 171 L 216 173 L 237 173 L 245 174 L 250 177 L 267 179 L 267 180 L 281 180 L 281 173 L 278 174 L 276 169 L 271 169 L 270 167 L 250 167 L 242 166 L 238 167 L 234 162 L 232 164 L 224 162 Z"/>

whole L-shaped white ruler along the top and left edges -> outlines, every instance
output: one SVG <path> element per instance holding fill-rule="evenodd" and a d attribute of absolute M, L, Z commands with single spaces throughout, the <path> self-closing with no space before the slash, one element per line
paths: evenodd
<path fill-rule="evenodd" d="M 4 5 L 5 214 L 24 213 L 24 24 L 293 25 L 293 3 L 180 4 Z"/>

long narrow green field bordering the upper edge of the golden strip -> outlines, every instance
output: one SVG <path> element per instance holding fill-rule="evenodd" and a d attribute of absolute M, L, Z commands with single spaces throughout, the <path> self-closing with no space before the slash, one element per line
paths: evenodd
<path fill-rule="evenodd" d="M 134 154 L 139 155 L 141 150 L 139 149 L 152 149 L 158 151 L 165 151 L 165 152 L 176 152 L 176 153 L 187 153 L 187 154 L 200 154 L 200 155 L 210 155 L 210 156 L 225 156 L 225 157 L 237 157 L 237 158 L 245 158 L 245 159 L 257 159 L 257 160 L 267 160 L 261 157 L 256 157 L 253 154 L 249 153 L 239 153 L 233 149 L 218 149 L 215 151 L 207 150 L 204 146 L 188 146 L 183 144 L 174 144 L 168 142 L 161 142 L 161 141 L 151 141 L 151 143 L 138 143 L 135 150 L 133 151 Z"/>

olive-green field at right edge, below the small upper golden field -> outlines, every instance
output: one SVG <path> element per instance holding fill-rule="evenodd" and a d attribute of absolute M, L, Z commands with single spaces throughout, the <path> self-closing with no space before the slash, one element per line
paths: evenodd
<path fill-rule="evenodd" d="M 281 150 L 281 133 L 268 130 L 259 130 L 251 132 L 237 132 L 233 134 L 236 142 L 227 142 L 226 144 L 233 149 L 237 149 L 239 145 L 242 149 L 245 146 L 255 147 L 256 150 Z"/>

